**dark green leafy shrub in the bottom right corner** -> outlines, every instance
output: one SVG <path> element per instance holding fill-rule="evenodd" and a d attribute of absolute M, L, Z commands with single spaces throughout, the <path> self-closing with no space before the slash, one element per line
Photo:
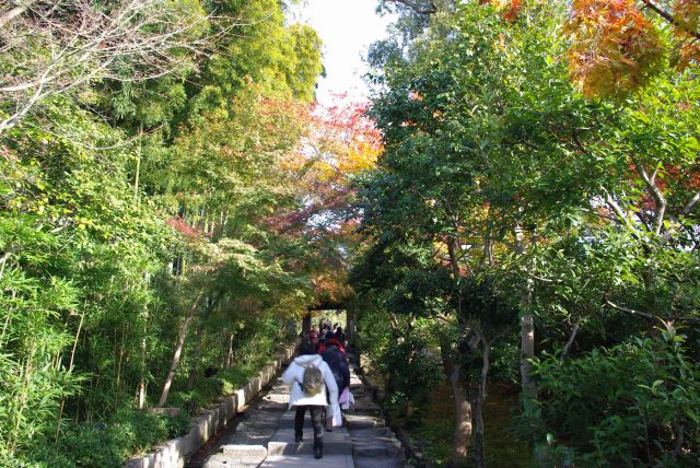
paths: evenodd
<path fill-rule="evenodd" d="M 536 429 L 542 464 L 698 466 L 700 365 L 684 346 L 670 329 L 563 362 L 535 360 L 540 406 L 518 425 Z"/>

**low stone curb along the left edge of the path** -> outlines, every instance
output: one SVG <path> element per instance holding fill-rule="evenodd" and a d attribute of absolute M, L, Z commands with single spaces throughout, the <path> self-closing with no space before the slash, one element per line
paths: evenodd
<path fill-rule="evenodd" d="M 201 411 L 186 435 L 167 441 L 147 455 L 127 460 L 124 468 L 183 468 L 190 455 L 242 411 L 262 387 L 272 382 L 282 366 L 292 359 L 296 346 L 296 342 L 288 346 L 246 385 L 222 397 L 214 407 Z"/>

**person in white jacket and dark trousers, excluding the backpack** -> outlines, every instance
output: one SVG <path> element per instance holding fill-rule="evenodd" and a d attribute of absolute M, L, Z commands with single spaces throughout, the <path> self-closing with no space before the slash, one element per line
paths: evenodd
<path fill-rule="evenodd" d="M 307 367 L 317 367 L 324 381 L 324 389 L 313 396 L 305 394 L 302 389 L 304 372 Z M 314 423 L 314 456 L 322 458 L 324 449 L 324 409 L 329 406 L 328 399 L 332 402 L 328 414 L 332 414 L 335 406 L 338 405 L 338 385 L 330 367 L 320 355 L 316 354 L 311 342 L 304 341 L 299 347 L 299 356 L 294 358 L 282 374 L 282 381 L 291 385 L 289 407 L 296 407 L 296 416 L 294 418 L 295 441 L 302 442 L 304 416 L 306 414 L 306 409 L 308 409 L 311 420 Z"/>

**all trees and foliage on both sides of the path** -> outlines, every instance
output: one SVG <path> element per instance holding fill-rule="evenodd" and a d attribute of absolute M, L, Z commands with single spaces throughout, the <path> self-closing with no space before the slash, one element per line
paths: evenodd
<path fill-rule="evenodd" d="M 284 2 L 0 9 L 0 465 L 119 466 L 342 300 L 441 461 L 492 378 L 542 466 L 699 465 L 700 84 L 633 3 L 380 1 L 381 143 Z"/>

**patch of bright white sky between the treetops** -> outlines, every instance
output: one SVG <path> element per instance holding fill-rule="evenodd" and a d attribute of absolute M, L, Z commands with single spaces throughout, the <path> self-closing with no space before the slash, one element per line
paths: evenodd
<path fill-rule="evenodd" d="M 291 20 L 311 25 L 324 42 L 326 78 L 318 82 L 317 100 L 330 105 L 332 95 L 347 93 L 351 101 L 368 95 L 363 59 L 373 42 L 386 37 L 388 16 L 375 13 L 377 0 L 305 0 Z"/>

